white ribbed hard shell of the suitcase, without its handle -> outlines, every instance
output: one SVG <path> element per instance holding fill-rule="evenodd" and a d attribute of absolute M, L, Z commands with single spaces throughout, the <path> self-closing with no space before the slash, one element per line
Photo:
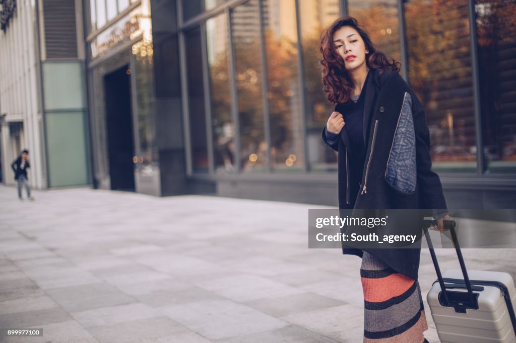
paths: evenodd
<path fill-rule="evenodd" d="M 427 301 L 433 321 L 442 343 L 481 343 L 504 342 L 516 343 L 510 310 L 516 308 L 516 288 L 512 277 L 505 272 L 467 270 L 473 293 L 478 294 L 478 309 L 443 306 L 439 301 L 441 286 L 434 282 L 428 292 Z M 468 291 L 460 269 L 446 270 L 442 275 L 449 292 L 461 292 L 466 297 Z M 487 282 L 486 282 L 487 281 Z M 491 281 L 497 281 L 507 287 L 508 297 Z M 449 287 L 456 282 L 456 287 Z M 506 298 L 510 301 L 507 303 Z M 464 311 L 465 313 L 461 313 Z"/>

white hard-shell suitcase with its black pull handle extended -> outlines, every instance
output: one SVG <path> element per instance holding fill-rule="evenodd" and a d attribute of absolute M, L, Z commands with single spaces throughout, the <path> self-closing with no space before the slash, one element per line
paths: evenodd
<path fill-rule="evenodd" d="M 427 301 L 442 343 L 516 343 L 516 288 L 505 272 L 466 270 L 454 232 L 450 233 L 461 269 L 442 275 L 426 234 L 438 280 L 428 292 Z M 443 293 L 443 289 L 446 293 Z"/>

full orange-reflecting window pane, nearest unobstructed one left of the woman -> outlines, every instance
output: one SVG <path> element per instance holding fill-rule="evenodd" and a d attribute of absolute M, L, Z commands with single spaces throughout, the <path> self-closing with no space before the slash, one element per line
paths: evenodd
<path fill-rule="evenodd" d="M 272 168 L 303 170 L 295 0 L 265 0 L 262 2 L 262 12 Z"/>

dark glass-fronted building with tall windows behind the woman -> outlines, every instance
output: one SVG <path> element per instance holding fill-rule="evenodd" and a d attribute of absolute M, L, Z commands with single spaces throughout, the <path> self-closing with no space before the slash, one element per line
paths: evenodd
<path fill-rule="evenodd" d="M 86 5 L 95 186 L 335 205 L 319 40 L 349 14 L 423 102 L 448 206 L 516 201 L 514 1 Z"/>

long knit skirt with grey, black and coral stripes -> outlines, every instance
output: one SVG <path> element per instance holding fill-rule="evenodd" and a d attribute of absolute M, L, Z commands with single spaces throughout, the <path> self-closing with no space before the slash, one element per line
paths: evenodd
<path fill-rule="evenodd" d="M 428 329 L 421 289 L 411 279 L 364 251 L 364 343 L 421 343 Z"/>

